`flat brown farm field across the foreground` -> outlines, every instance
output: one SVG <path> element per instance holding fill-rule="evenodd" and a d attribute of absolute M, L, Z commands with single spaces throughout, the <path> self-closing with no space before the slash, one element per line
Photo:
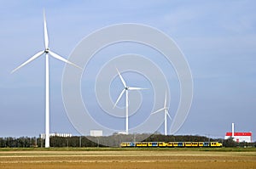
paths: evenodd
<path fill-rule="evenodd" d="M 255 151 L 195 150 L 8 150 L 0 168 L 256 168 Z"/>

